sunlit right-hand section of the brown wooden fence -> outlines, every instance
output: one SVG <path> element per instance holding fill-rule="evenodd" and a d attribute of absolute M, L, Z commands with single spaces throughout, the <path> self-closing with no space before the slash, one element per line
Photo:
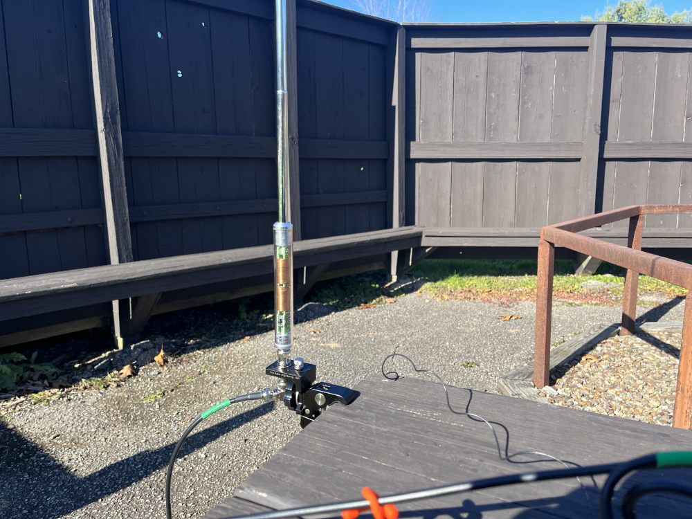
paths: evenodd
<path fill-rule="evenodd" d="M 692 200 L 691 28 L 406 33 L 407 224 L 506 235 L 635 203 Z M 646 227 L 692 236 L 690 215 L 650 216 Z"/>

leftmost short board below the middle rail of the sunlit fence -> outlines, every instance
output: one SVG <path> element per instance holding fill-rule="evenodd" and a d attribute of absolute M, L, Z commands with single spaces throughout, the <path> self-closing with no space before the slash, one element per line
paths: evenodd
<path fill-rule="evenodd" d="M 448 227 L 452 188 L 452 164 L 421 163 L 419 221 L 421 226 Z"/>

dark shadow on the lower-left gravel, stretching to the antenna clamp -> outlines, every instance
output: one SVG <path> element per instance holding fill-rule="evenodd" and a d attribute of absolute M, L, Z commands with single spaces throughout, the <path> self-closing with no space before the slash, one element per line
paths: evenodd
<path fill-rule="evenodd" d="M 183 444 L 179 459 L 273 409 L 274 402 L 265 403 L 191 435 Z M 55 518 L 71 513 L 167 466 L 174 446 L 172 443 L 138 453 L 80 478 L 19 433 L 0 429 L 0 516 Z M 163 499 L 163 487 L 162 475 L 161 495 L 152 495 L 152 500 Z"/>

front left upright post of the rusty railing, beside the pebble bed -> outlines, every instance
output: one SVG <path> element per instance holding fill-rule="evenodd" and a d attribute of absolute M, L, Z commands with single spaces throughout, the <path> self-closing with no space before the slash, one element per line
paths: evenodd
<path fill-rule="evenodd" d="M 555 246 L 538 242 L 538 286 L 536 290 L 536 343 L 534 344 L 534 385 L 550 384 L 550 325 L 553 307 Z"/>

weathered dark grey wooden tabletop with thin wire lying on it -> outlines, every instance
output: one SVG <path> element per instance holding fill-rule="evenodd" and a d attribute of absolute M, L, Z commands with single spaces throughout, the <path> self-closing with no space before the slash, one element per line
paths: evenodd
<path fill-rule="evenodd" d="M 236 489 L 235 498 L 286 509 L 360 498 L 363 486 L 388 494 L 559 466 L 554 461 L 528 463 L 546 459 L 538 455 L 518 456 L 513 463 L 500 460 L 489 427 L 451 413 L 439 384 L 406 378 L 385 381 L 374 375 L 356 390 L 361 394 L 352 405 L 329 408 L 248 477 Z M 505 449 L 509 454 L 539 450 L 585 465 L 692 445 L 692 432 L 687 430 L 459 388 L 449 391 L 455 410 L 468 409 L 494 424 L 503 453 Z M 663 474 L 635 475 L 625 488 Z M 688 469 L 668 471 L 665 476 L 692 482 Z M 602 484 L 603 479 L 597 477 L 596 481 Z M 588 491 L 576 480 L 558 480 L 403 504 L 400 509 L 412 518 L 430 517 L 432 511 L 435 517 L 459 517 L 461 513 L 479 518 L 596 517 L 597 491 L 590 480 L 583 478 L 583 484 Z M 209 517 L 247 513 L 235 507 L 235 498 L 224 502 L 223 513 L 213 511 L 221 515 Z M 650 498 L 646 507 L 651 516 L 685 517 L 689 513 L 689 502 L 675 498 Z"/>

